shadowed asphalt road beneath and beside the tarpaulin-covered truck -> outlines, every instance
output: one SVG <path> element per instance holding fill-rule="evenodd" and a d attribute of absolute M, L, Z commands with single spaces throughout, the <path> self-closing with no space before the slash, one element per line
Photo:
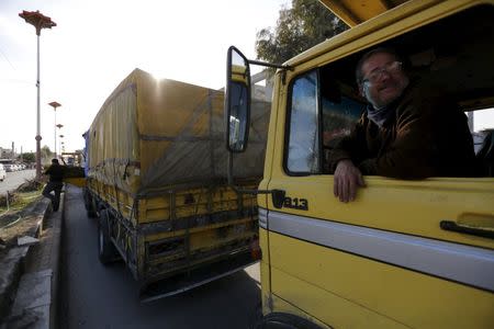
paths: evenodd
<path fill-rule="evenodd" d="M 81 190 L 67 186 L 60 328 L 248 328 L 260 303 L 259 265 L 178 296 L 141 304 L 123 263 L 100 264 L 97 223 Z"/>

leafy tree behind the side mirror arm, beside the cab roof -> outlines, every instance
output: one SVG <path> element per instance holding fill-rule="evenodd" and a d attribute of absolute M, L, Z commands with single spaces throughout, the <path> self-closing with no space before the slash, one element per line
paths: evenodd
<path fill-rule="evenodd" d="M 257 57 L 281 64 L 346 29 L 317 0 L 292 0 L 291 9 L 280 10 L 274 31 L 268 27 L 257 33 Z"/>

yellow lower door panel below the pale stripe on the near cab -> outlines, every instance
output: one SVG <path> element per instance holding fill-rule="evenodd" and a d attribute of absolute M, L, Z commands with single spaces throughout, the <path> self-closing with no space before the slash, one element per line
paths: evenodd
<path fill-rule="evenodd" d="M 270 243 L 272 294 L 334 328 L 491 328 L 494 321 L 490 292 L 278 234 Z"/>

